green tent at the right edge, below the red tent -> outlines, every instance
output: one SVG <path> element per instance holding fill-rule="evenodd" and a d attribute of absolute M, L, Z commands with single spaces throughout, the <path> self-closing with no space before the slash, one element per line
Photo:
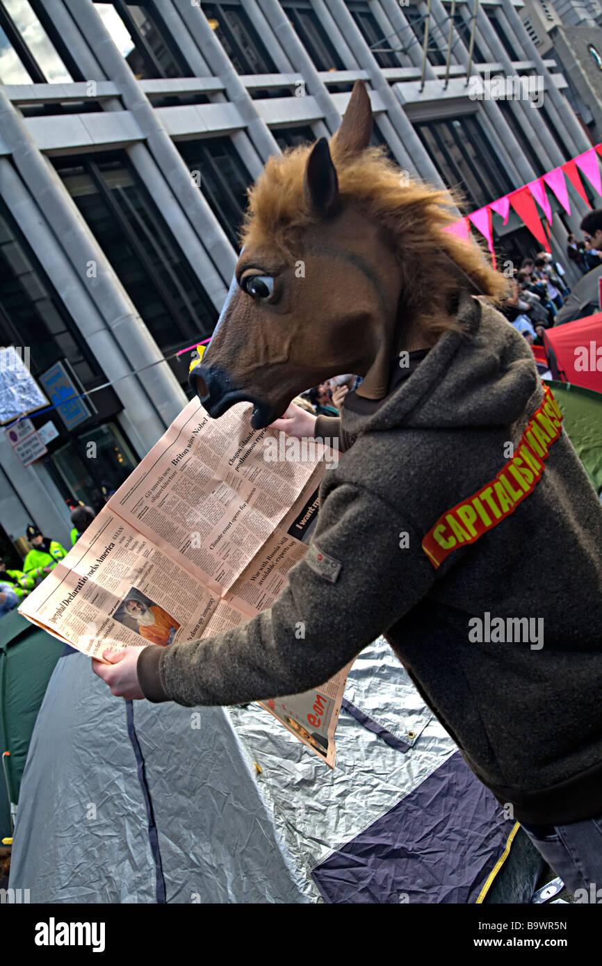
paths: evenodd
<path fill-rule="evenodd" d="M 602 394 L 570 383 L 551 381 L 548 385 L 559 404 L 568 438 L 596 493 L 602 493 Z"/>

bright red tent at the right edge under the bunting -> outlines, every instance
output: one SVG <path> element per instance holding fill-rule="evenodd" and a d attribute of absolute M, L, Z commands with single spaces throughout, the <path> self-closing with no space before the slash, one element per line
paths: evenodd
<path fill-rule="evenodd" d="M 543 336 L 552 373 L 566 383 L 602 392 L 602 312 L 547 328 Z"/>

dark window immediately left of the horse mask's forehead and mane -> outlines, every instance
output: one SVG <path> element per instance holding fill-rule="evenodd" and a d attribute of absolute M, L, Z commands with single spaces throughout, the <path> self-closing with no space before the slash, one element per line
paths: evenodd
<path fill-rule="evenodd" d="M 251 177 L 229 137 L 178 141 L 176 147 L 190 172 L 200 173 L 200 188 L 235 250 L 246 208 Z"/>

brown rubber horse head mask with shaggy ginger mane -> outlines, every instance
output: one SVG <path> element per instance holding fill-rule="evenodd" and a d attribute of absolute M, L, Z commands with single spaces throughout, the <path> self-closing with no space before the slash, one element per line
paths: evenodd
<path fill-rule="evenodd" d="M 458 325 L 461 290 L 502 296 L 483 251 L 443 230 L 457 218 L 453 197 L 400 172 L 371 134 L 357 81 L 330 145 L 270 157 L 250 188 L 237 284 L 194 369 L 212 416 L 247 400 L 261 428 L 342 372 L 380 399 L 396 354 Z"/>

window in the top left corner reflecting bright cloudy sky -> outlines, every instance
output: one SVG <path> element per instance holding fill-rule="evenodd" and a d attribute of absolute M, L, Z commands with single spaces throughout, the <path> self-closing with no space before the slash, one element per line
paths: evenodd
<path fill-rule="evenodd" d="M 28 0 L 0 4 L 0 78 L 4 84 L 60 84 L 73 79 Z"/>

